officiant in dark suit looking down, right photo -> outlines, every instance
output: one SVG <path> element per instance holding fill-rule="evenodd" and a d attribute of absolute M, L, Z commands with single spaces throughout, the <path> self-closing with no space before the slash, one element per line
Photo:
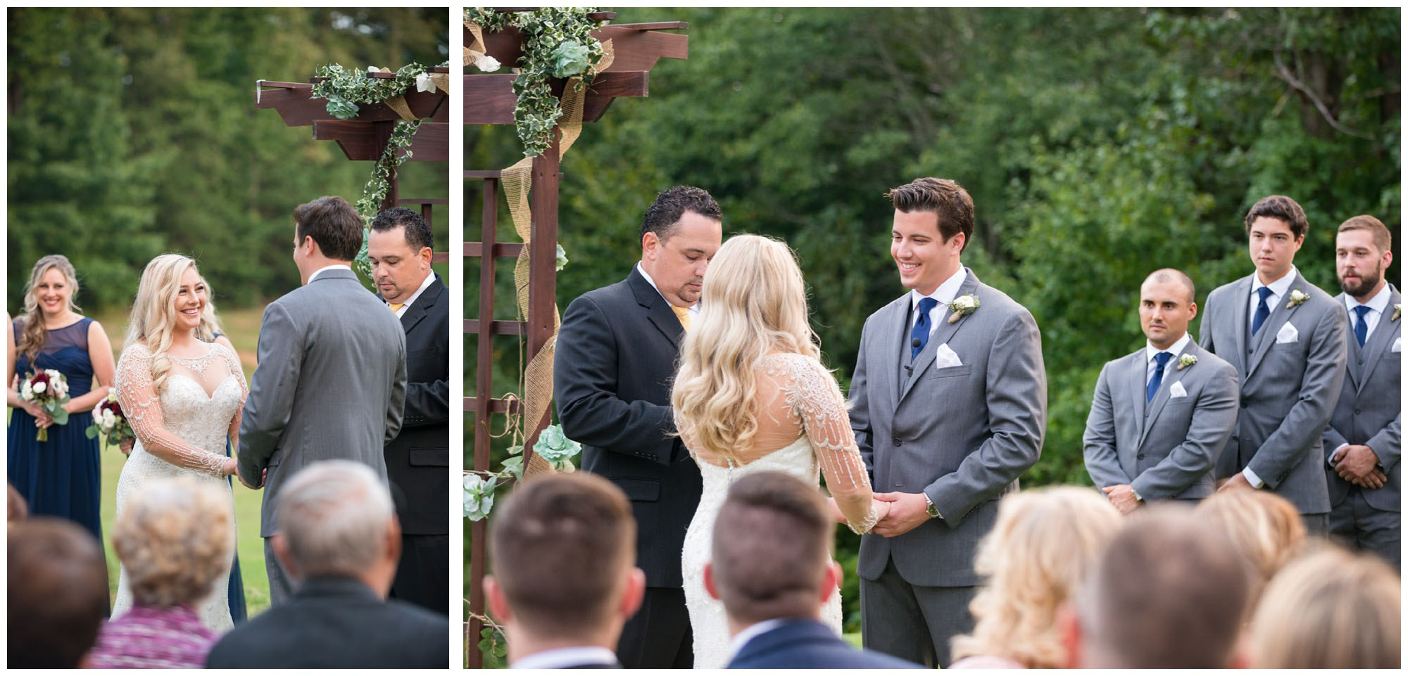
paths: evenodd
<path fill-rule="evenodd" d="M 701 480 L 673 435 L 670 380 L 722 238 L 722 213 L 707 192 L 662 192 L 641 224 L 641 262 L 625 280 L 573 300 L 558 332 L 553 390 L 562 431 L 582 444 L 582 469 L 631 499 L 638 527 L 646 592 L 617 648 L 627 668 L 694 665 L 680 552 Z"/>

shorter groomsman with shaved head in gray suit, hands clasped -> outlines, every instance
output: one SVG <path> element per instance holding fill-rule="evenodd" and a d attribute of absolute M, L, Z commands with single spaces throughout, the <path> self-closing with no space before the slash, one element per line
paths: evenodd
<path fill-rule="evenodd" d="M 1212 466 L 1236 428 L 1236 369 L 1193 342 L 1193 299 L 1183 272 L 1152 272 L 1139 287 L 1146 346 L 1100 369 L 1086 470 L 1121 514 L 1211 496 Z"/>

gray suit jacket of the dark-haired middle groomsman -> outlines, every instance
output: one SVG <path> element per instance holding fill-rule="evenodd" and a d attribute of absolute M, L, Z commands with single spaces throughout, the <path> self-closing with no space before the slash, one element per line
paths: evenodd
<path fill-rule="evenodd" d="M 1287 292 L 1256 337 L 1247 335 L 1250 275 L 1208 294 L 1198 342 L 1236 366 L 1242 379 L 1236 432 L 1218 458 L 1217 476 L 1250 466 L 1301 514 L 1322 514 L 1329 511 L 1329 494 L 1321 434 L 1345 382 L 1345 306 L 1300 272 L 1290 289 L 1309 297 L 1287 307 Z M 1287 324 L 1298 337 L 1277 344 Z"/>

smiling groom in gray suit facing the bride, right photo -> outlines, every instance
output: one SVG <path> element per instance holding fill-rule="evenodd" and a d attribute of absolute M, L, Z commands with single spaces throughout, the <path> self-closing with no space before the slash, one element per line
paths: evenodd
<path fill-rule="evenodd" d="M 1041 456 L 1046 369 L 1032 314 L 959 261 L 967 192 L 929 177 L 888 199 L 910 292 L 866 320 L 850 380 L 850 427 L 891 503 L 860 539 L 860 628 L 869 649 L 949 666 L 949 639 L 973 628 L 973 551 Z"/>

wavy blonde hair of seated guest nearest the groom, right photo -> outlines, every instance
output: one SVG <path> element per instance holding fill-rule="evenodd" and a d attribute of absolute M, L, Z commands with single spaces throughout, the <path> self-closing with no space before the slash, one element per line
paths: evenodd
<path fill-rule="evenodd" d="M 973 559 L 987 582 L 969 603 L 973 632 L 953 638 L 953 659 L 994 655 L 1032 669 L 1063 666 L 1056 608 L 1074 596 L 1121 525 L 1119 511 L 1094 489 L 1004 497 Z"/>

